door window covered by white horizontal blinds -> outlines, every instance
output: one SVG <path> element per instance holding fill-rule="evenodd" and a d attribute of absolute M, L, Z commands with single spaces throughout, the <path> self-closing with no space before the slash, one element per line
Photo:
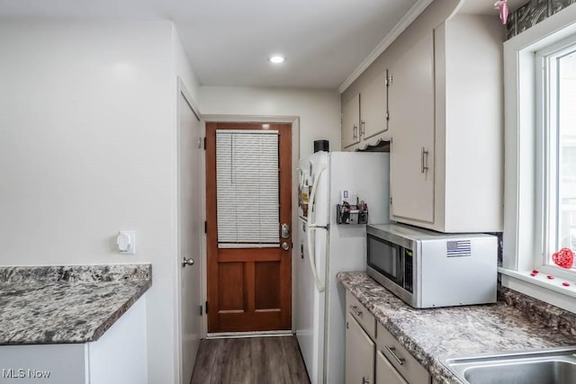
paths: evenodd
<path fill-rule="evenodd" d="M 278 131 L 216 130 L 218 247 L 279 246 Z"/>

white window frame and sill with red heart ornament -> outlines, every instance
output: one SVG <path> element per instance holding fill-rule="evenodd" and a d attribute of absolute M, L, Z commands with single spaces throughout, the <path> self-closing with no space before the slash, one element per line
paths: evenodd
<path fill-rule="evenodd" d="M 502 285 L 576 312 L 576 273 L 545 263 L 546 174 L 541 162 L 544 116 L 537 107 L 542 76 L 536 52 L 576 34 L 576 5 L 539 22 L 504 43 L 505 183 Z M 541 126 L 540 126 L 541 128 Z M 535 173 L 536 170 L 536 173 Z M 540 273 L 531 276 L 538 269 Z M 547 279 L 546 275 L 556 277 Z M 562 281 L 571 285 L 564 287 Z"/>

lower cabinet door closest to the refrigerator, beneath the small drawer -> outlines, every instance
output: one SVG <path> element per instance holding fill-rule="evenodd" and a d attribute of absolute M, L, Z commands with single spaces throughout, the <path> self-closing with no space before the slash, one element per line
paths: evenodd
<path fill-rule="evenodd" d="M 362 326 L 347 313 L 346 321 L 346 383 L 374 383 L 374 342 Z"/>

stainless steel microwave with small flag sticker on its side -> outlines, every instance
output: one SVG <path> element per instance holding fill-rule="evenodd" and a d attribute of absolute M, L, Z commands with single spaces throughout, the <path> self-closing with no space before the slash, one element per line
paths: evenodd
<path fill-rule="evenodd" d="M 498 238 L 366 226 L 368 275 L 414 308 L 496 302 Z"/>

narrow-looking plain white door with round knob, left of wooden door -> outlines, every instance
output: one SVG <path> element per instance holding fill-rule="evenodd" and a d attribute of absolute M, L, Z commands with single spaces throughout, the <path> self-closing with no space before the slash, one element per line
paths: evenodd
<path fill-rule="evenodd" d="M 186 101 L 178 96 L 178 247 L 180 279 L 181 383 L 187 384 L 201 335 L 201 135 L 200 121 Z M 184 258 L 189 264 L 184 264 Z"/>

